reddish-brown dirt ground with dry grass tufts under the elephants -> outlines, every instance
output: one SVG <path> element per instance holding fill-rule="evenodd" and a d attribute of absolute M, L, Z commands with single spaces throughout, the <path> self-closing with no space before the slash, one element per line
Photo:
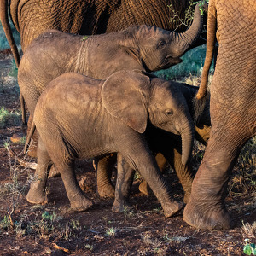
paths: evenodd
<path fill-rule="evenodd" d="M 2 51 L 0 108 L 19 111 L 16 79 L 9 75 L 13 68 L 10 51 Z M 0 255 L 245 255 L 244 239 L 255 243 L 255 233 L 245 229 L 256 220 L 255 183 L 245 189 L 241 172 L 236 183 L 230 183 L 226 199 L 230 230 L 195 230 L 183 221 L 183 211 L 165 218 L 154 195 L 139 192 L 140 177 L 132 187 L 134 207 L 112 212 L 113 200 L 96 194 L 91 160 L 79 160 L 76 167 L 78 180 L 86 177 L 84 190 L 95 202 L 90 210 L 70 209 L 61 177 L 49 178 L 47 205 L 30 204 L 26 193 L 34 170 L 20 166 L 15 155 L 24 157 L 23 145 L 10 141 L 25 132 L 18 123 L 0 129 Z M 35 161 L 27 156 L 25 160 Z M 172 180 L 173 194 L 183 200 L 183 189 L 169 172 L 166 178 Z"/>

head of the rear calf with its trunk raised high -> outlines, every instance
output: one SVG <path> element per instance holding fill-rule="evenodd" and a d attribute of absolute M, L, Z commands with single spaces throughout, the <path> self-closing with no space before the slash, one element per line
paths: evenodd
<path fill-rule="evenodd" d="M 146 71 L 169 68 L 182 60 L 180 57 L 195 43 L 202 30 L 203 18 L 195 7 L 195 17 L 186 32 L 170 32 L 155 26 L 132 26 L 126 30 L 124 46 L 128 53 L 143 63 Z"/>

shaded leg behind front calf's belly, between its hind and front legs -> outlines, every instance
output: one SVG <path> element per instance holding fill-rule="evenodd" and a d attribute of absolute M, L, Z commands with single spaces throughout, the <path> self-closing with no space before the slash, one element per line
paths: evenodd
<path fill-rule="evenodd" d="M 114 197 L 114 186 L 111 183 L 116 154 L 108 154 L 103 158 L 95 158 L 97 192 L 101 197 Z"/>

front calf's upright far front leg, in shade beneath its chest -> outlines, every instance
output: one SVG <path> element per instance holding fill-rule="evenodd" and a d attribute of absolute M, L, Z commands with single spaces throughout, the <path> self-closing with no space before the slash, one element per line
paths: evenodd
<path fill-rule="evenodd" d="M 115 185 L 113 212 L 124 212 L 125 207 L 128 206 L 134 173 L 135 171 L 121 154 L 118 154 L 118 177 Z"/>

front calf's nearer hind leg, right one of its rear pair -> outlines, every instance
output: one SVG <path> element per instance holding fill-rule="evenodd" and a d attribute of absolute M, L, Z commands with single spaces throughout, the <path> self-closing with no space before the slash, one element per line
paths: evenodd
<path fill-rule="evenodd" d="M 61 172 L 61 178 L 63 180 L 71 208 L 75 211 L 85 211 L 91 207 L 93 205 L 92 201 L 84 195 L 84 192 L 80 188 L 75 176 L 74 161 L 72 160 L 68 163 L 60 163 L 58 161 L 55 166 Z"/>

